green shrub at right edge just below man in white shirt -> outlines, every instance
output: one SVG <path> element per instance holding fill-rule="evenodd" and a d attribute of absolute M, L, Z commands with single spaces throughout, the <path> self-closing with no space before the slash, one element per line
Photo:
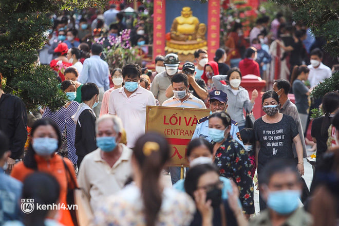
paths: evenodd
<path fill-rule="evenodd" d="M 327 92 L 339 90 L 339 71 L 330 78 L 325 79 L 321 84 L 315 86 L 310 93 L 310 97 L 322 98 Z"/>

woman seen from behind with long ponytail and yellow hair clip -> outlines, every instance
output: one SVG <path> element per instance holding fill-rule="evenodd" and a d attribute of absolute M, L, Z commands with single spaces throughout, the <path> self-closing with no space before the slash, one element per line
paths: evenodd
<path fill-rule="evenodd" d="M 135 145 L 134 183 L 108 197 L 95 213 L 95 225 L 190 225 L 195 204 L 186 195 L 165 187 L 161 172 L 170 159 L 166 139 L 155 133 Z"/>

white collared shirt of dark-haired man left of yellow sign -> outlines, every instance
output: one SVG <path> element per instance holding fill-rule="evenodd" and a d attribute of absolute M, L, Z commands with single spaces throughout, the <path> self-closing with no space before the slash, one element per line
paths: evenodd
<path fill-rule="evenodd" d="M 137 139 L 145 133 L 146 107 L 156 106 L 153 93 L 140 85 L 127 97 L 125 86 L 110 93 L 108 112 L 122 120 L 127 135 L 127 147 L 134 147 Z"/>

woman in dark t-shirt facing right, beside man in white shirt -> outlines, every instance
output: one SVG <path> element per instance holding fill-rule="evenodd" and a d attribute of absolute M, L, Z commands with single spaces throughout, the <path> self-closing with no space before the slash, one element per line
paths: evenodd
<path fill-rule="evenodd" d="M 307 81 L 309 72 L 310 69 L 306 65 L 296 65 L 293 68 L 291 76 L 291 87 L 295 97 L 295 106 L 298 109 L 304 133 L 308 119 L 308 96 L 310 95 L 310 90 L 304 82 Z"/>

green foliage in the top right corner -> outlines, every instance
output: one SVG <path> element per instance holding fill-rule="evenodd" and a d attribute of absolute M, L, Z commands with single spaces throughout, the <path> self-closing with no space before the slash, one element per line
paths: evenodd
<path fill-rule="evenodd" d="M 272 0 L 271 0 L 272 1 Z M 274 0 L 296 8 L 293 19 L 306 23 L 314 36 L 326 41 L 324 50 L 339 55 L 339 4 L 337 0 Z"/>

